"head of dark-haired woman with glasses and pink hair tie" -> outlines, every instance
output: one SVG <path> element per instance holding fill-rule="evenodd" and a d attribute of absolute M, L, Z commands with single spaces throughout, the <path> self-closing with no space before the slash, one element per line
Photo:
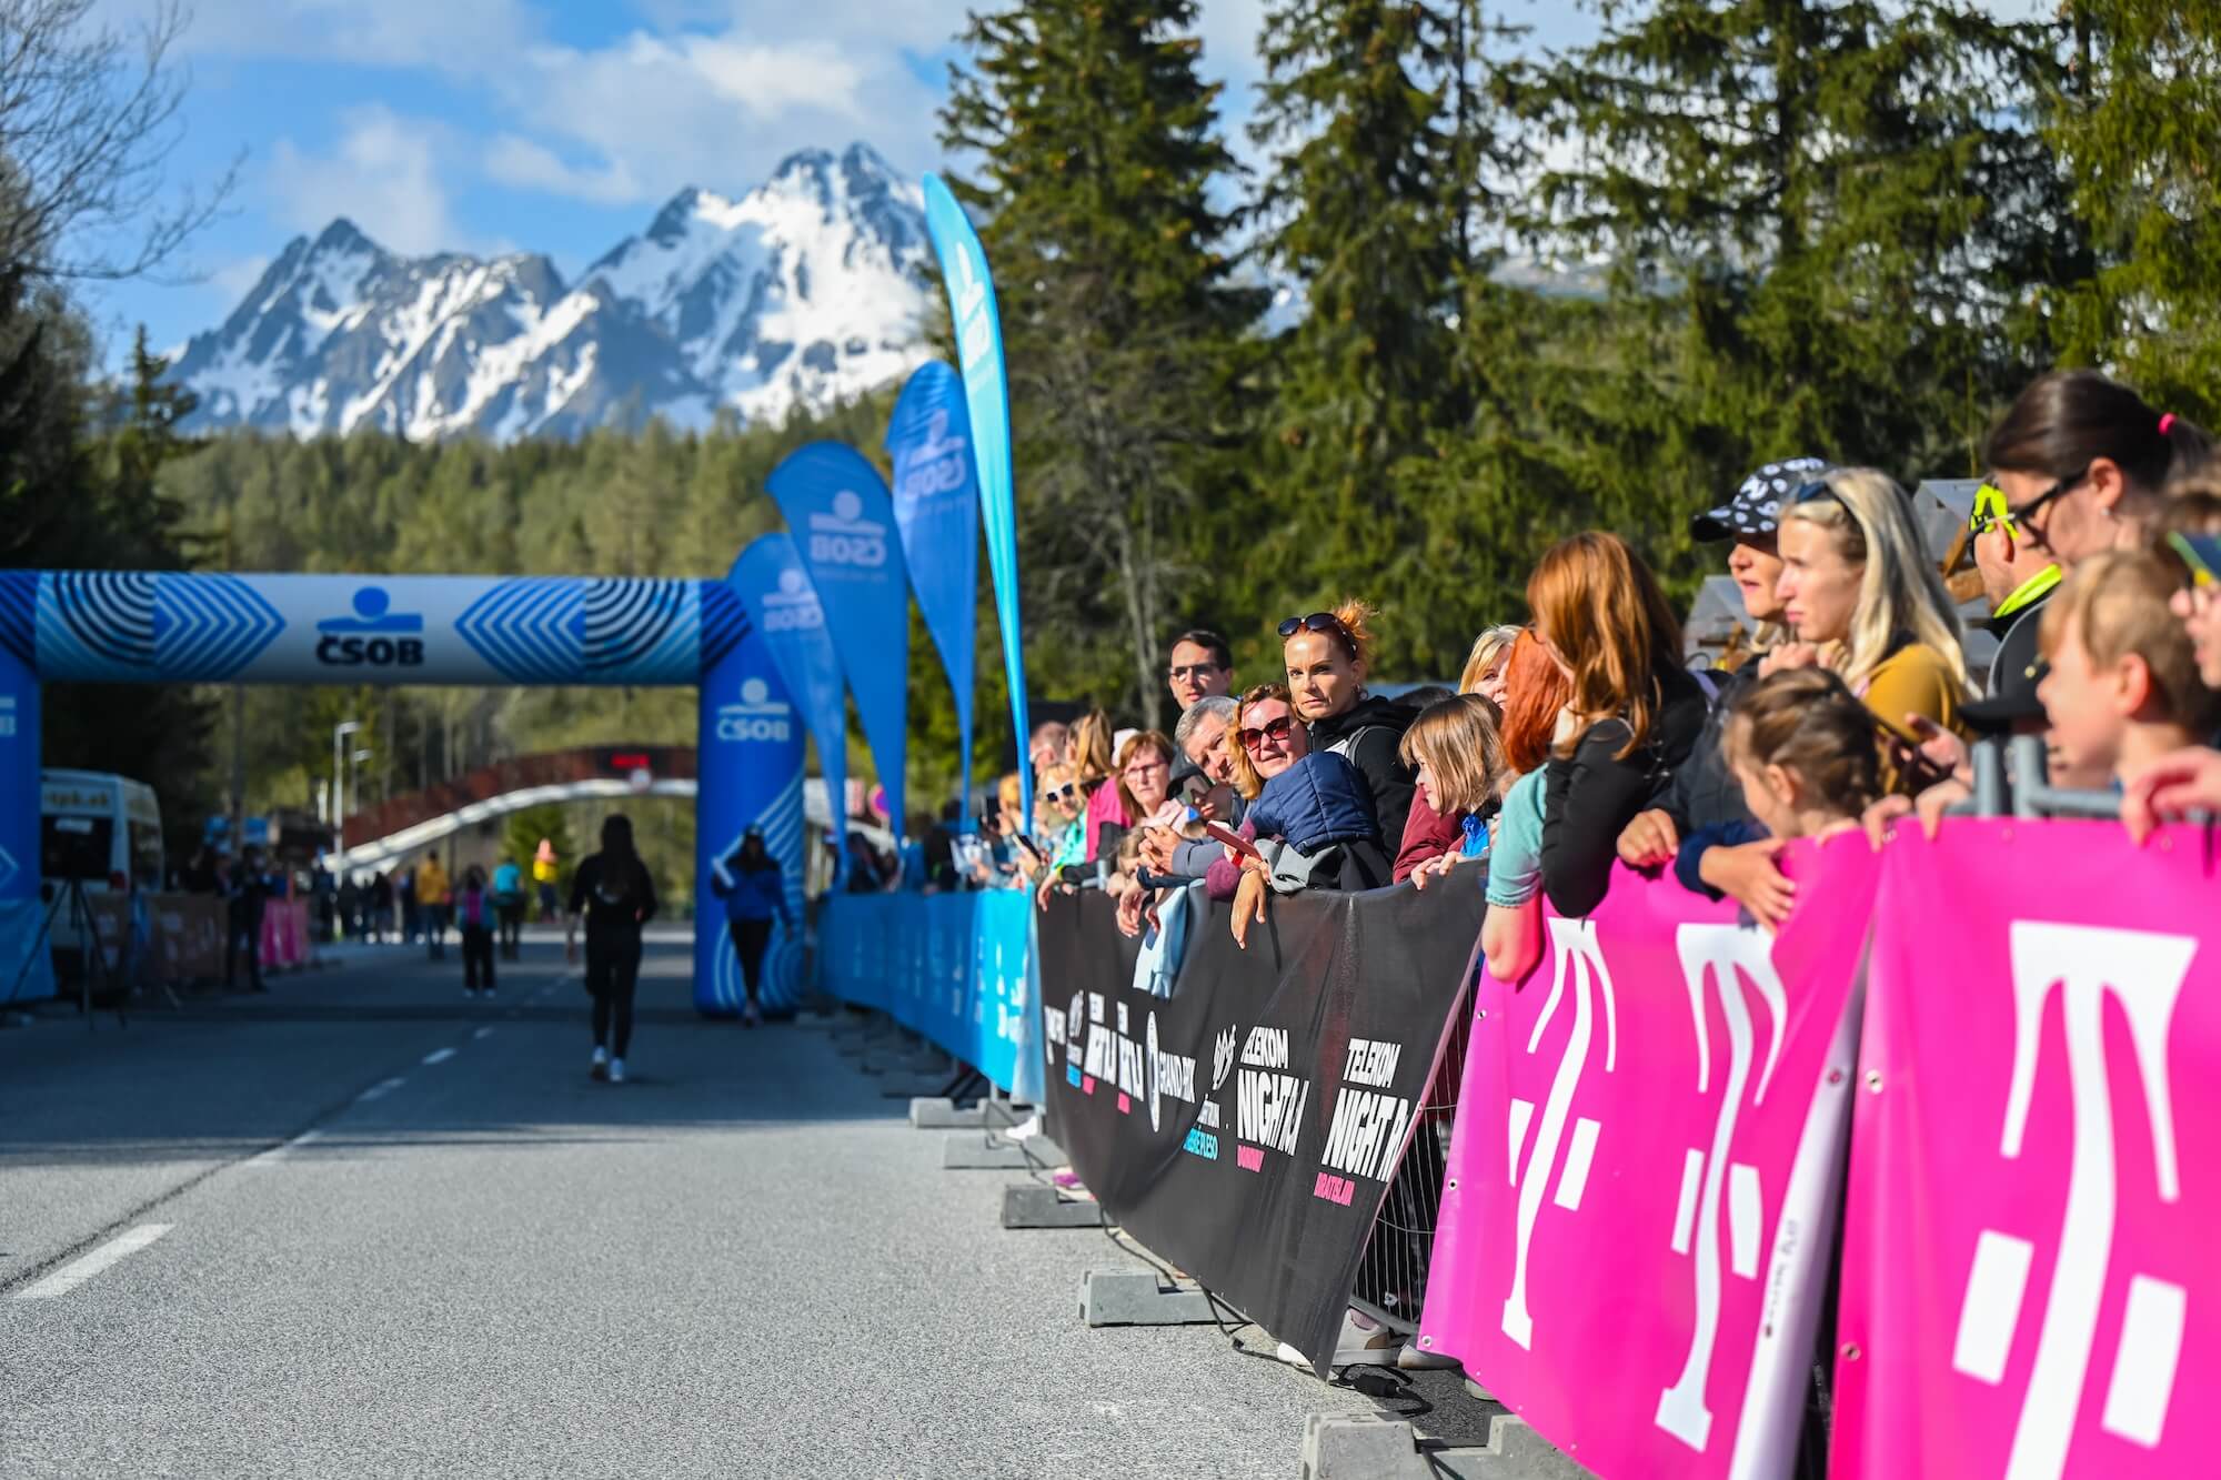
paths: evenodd
<path fill-rule="evenodd" d="M 2006 411 L 1983 458 L 1986 491 L 2014 540 L 2059 564 L 2143 544 L 2168 478 L 2205 460 L 2205 433 L 2097 371 L 2052 371 Z"/>

